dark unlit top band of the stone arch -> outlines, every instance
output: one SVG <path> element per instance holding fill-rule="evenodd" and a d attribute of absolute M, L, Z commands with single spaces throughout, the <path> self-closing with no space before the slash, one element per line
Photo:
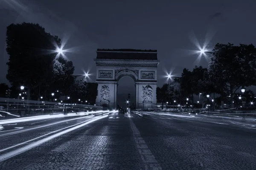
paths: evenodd
<path fill-rule="evenodd" d="M 157 60 L 157 50 L 97 49 L 96 59 Z"/>

